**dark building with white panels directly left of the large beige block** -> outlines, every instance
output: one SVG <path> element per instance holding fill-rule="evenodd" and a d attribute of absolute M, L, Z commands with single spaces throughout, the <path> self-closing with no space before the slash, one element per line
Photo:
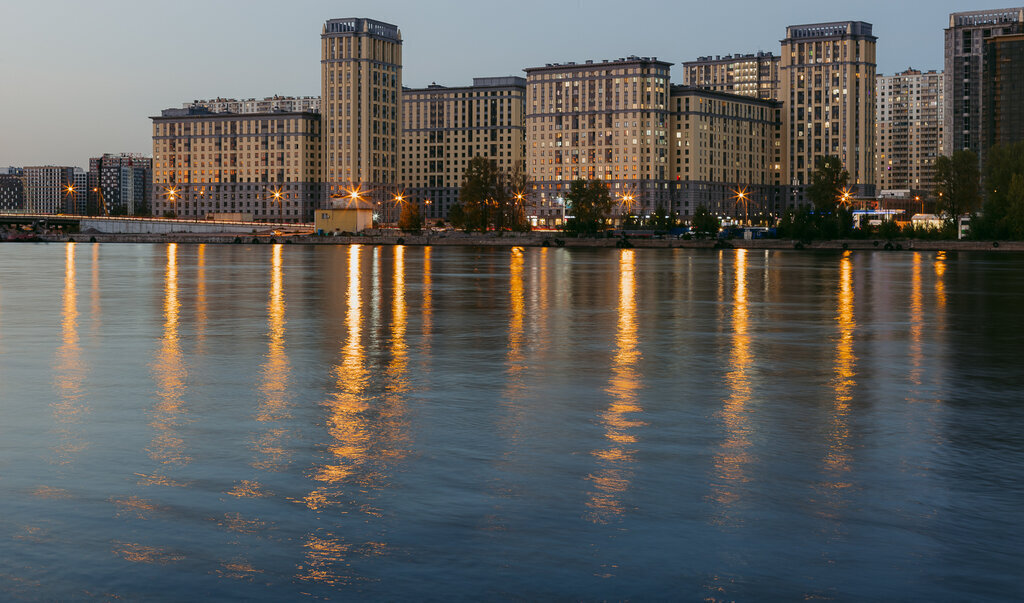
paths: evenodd
<path fill-rule="evenodd" d="M 91 214 L 135 215 L 148 211 L 153 195 L 153 158 L 105 154 L 89 160 Z M 100 195 L 101 193 L 101 195 Z M 100 206 L 102 200 L 103 206 Z"/>

